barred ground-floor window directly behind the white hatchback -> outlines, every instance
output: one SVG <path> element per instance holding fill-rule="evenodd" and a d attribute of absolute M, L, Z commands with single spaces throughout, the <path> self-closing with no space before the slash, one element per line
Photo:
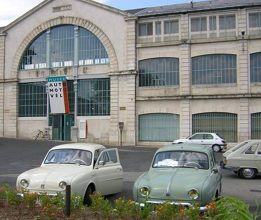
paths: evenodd
<path fill-rule="evenodd" d="M 192 133 L 218 133 L 227 142 L 237 142 L 237 114 L 206 112 L 192 115 Z"/>

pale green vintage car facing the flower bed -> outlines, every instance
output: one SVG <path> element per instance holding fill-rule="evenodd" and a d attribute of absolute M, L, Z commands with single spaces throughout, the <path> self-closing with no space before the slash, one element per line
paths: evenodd
<path fill-rule="evenodd" d="M 169 145 L 157 150 L 149 171 L 135 181 L 133 197 L 141 205 L 197 202 L 204 211 L 220 195 L 221 180 L 221 168 L 209 146 Z"/>

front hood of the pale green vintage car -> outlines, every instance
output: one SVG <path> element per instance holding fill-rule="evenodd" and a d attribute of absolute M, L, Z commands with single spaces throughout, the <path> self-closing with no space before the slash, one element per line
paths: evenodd
<path fill-rule="evenodd" d="M 157 168 L 142 176 L 138 190 L 141 186 L 147 185 L 152 199 L 191 200 L 188 191 L 196 188 L 200 200 L 202 186 L 209 175 L 209 171 L 203 169 Z M 170 197 L 167 197 L 166 193 L 170 193 Z"/>

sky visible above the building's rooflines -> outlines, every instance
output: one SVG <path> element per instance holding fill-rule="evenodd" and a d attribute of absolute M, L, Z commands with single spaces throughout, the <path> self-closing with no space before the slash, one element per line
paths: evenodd
<path fill-rule="evenodd" d="M 203 0 L 194 0 L 194 2 L 200 1 Z M 41 2 L 43 0 L 0 0 L 0 27 L 7 26 Z M 96 0 L 96 2 L 128 10 L 189 3 L 190 0 Z"/>

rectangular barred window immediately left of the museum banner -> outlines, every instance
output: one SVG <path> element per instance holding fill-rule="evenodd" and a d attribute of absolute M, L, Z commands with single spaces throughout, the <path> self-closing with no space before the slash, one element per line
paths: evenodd
<path fill-rule="evenodd" d="M 20 83 L 19 88 L 19 117 L 46 116 L 45 82 Z"/>

